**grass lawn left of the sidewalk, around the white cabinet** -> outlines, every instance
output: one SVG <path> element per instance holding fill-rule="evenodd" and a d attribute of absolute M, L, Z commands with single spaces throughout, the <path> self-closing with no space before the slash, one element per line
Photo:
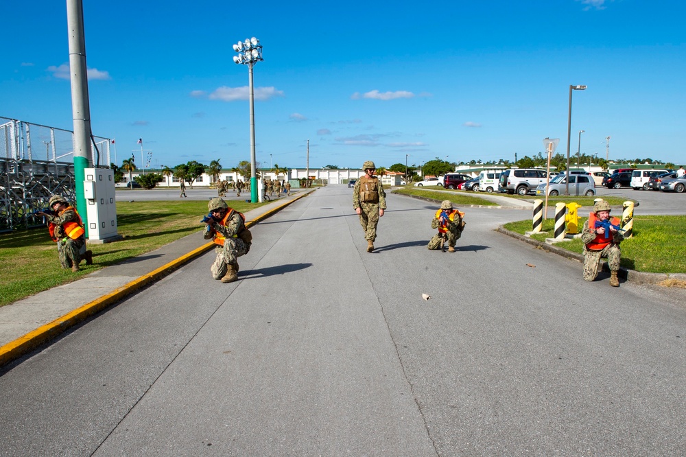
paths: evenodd
<path fill-rule="evenodd" d="M 262 203 L 231 202 L 245 213 Z M 117 202 L 117 226 L 123 239 L 108 244 L 88 244 L 93 265 L 81 263 L 81 270 L 63 270 L 57 247 L 47 228 L 15 231 L 0 235 L 0 306 L 56 285 L 70 283 L 88 273 L 149 253 L 176 239 L 203 229 L 207 202 Z"/>

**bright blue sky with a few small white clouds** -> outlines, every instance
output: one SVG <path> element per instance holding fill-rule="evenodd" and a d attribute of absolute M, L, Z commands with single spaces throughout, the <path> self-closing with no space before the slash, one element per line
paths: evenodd
<path fill-rule="evenodd" d="M 84 1 L 93 133 L 152 165 L 361 167 L 566 152 L 686 163 L 681 1 Z M 3 2 L 0 115 L 73 128 L 66 1 Z M 12 20 L 8 20 L 8 19 Z M 137 154 L 139 157 L 140 154 Z M 137 163 L 140 160 L 137 161 Z"/>

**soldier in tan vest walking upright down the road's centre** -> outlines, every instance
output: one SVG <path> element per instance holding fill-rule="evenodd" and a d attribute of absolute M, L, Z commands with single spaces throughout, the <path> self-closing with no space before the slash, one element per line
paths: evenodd
<path fill-rule="evenodd" d="M 366 161 L 365 175 L 359 178 L 353 188 L 353 209 L 359 215 L 359 223 L 364 230 L 364 238 L 367 240 L 367 252 L 374 250 L 374 240 L 377 239 L 377 224 L 379 218 L 386 211 L 386 192 L 379 178 L 374 176 L 377 169 L 374 162 Z"/>

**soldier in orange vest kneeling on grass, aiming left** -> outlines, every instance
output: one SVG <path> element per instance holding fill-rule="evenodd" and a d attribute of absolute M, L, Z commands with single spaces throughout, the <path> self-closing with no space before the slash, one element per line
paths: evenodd
<path fill-rule="evenodd" d="M 93 252 L 85 250 L 86 231 L 79 213 L 69 206 L 66 198 L 58 195 L 50 197 L 48 206 L 52 210 L 50 214 L 43 211 L 36 214 L 45 216 L 50 237 L 57 243 L 62 268 L 71 268 L 72 272 L 78 272 L 82 252 L 86 265 L 91 265 Z"/>

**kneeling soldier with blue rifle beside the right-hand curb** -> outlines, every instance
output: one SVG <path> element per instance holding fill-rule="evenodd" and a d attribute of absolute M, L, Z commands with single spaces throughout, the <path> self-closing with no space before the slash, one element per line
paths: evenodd
<path fill-rule="evenodd" d="M 589 219 L 584 222 L 581 232 L 581 241 L 584 242 L 584 280 L 593 281 L 598 276 L 600 259 L 606 258 L 610 268 L 610 285 L 619 287 L 619 260 L 622 250 L 619 243 L 624 235 L 616 229 L 619 226 L 619 218 L 610 218 L 610 204 L 605 200 L 595 202 L 593 212 Z M 599 222 L 599 224 L 596 224 Z M 605 224 L 602 224 L 605 222 Z M 607 222 L 610 224 L 608 225 Z M 607 228 L 606 228 L 607 227 Z"/>

